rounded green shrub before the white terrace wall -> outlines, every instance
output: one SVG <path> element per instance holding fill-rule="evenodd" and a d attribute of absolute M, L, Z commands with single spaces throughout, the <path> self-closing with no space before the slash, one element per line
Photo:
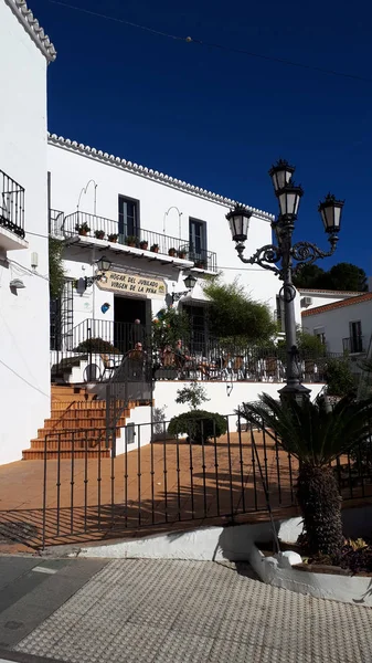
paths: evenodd
<path fill-rule="evenodd" d="M 210 438 L 220 438 L 227 430 L 226 419 L 219 412 L 206 412 L 205 410 L 193 410 L 173 417 L 168 427 L 171 435 L 187 433 L 192 442 L 201 444 Z"/>

